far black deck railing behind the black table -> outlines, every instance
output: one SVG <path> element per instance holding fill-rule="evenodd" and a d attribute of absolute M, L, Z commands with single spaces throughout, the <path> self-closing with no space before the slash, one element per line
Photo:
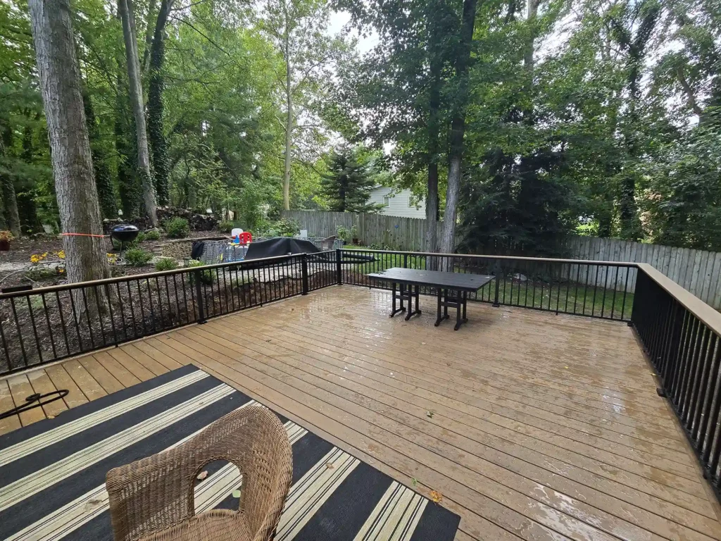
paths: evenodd
<path fill-rule="evenodd" d="M 390 289 L 366 274 L 392 267 L 489 274 L 495 279 L 469 300 L 622 321 L 631 317 L 637 275 L 635 263 L 568 259 L 344 249 L 340 260 L 343 283 Z"/>

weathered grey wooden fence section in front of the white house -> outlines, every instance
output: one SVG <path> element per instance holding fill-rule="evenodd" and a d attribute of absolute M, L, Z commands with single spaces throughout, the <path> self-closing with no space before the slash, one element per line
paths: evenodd
<path fill-rule="evenodd" d="M 385 214 L 353 214 L 352 212 L 283 211 L 283 218 L 298 221 L 312 237 L 330 237 L 338 227 L 355 225 L 358 239 L 366 246 L 392 250 L 425 250 L 426 221 Z M 438 238 L 443 222 L 437 221 Z"/>

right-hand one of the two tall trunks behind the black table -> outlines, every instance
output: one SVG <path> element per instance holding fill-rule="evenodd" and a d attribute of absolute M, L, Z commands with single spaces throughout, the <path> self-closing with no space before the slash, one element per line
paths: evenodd
<path fill-rule="evenodd" d="M 443 236 L 441 252 L 453 253 L 456 238 L 456 218 L 461 191 L 461 162 L 463 162 L 463 138 L 466 128 L 466 105 L 468 102 L 468 66 L 471 61 L 473 27 L 476 19 L 477 0 L 464 0 L 461 18 L 459 53 L 456 56 L 456 79 L 458 95 L 451 120 L 451 144 L 448 154 L 448 189 L 446 211 L 443 213 Z"/>

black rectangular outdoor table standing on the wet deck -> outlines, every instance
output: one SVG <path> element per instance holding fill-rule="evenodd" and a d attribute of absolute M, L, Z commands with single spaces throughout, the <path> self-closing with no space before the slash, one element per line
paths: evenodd
<path fill-rule="evenodd" d="M 406 313 L 406 321 L 410 320 L 413 315 L 420 315 L 420 307 L 418 304 L 418 295 L 420 294 L 420 286 L 429 286 L 435 289 L 438 298 L 436 308 L 437 317 L 435 326 L 441 325 L 441 321 L 448 319 L 448 307 L 456 309 L 456 326 L 454 330 L 459 330 L 462 323 L 468 321 L 466 319 L 466 302 L 469 292 L 477 291 L 494 276 L 472 273 L 445 273 L 441 271 L 423 271 L 415 268 L 389 268 L 379 273 L 371 273 L 367 275 L 371 280 L 386 281 L 392 283 L 393 309 L 391 317 L 398 312 L 406 312 L 404 302 L 408 302 L 408 310 Z M 397 293 L 396 284 L 399 286 Z M 396 307 L 396 301 L 400 300 L 401 305 Z M 413 309 L 413 300 L 415 299 L 415 310 Z M 443 308 L 443 315 L 441 315 Z"/>

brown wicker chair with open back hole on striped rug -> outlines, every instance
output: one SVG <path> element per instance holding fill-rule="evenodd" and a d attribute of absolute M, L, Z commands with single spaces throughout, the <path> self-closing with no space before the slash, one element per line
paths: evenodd
<path fill-rule="evenodd" d="M 195 478 L 216 460 L 242 474 L 238 511 L 195 514 Z M 107 472 L 115 541 L 267 541 L 278 526 L 293 475 L 293 454 L 278 417 L 235 410 L 173 449 Z"/>

